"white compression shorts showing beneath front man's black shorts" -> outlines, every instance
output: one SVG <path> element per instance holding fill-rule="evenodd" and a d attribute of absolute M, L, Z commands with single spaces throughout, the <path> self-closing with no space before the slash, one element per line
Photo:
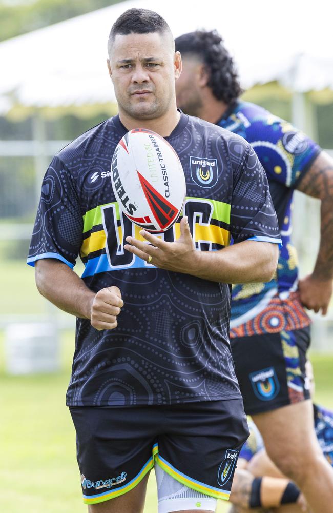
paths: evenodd
<path fill-rule="evenodd" d="M 159 465 L 155 465 L 154 469 L 157 483 L 158 513 L 186 510 L 212 511 L 215 513 L 217 499 L 188 488 L 169 476 Z"/>

